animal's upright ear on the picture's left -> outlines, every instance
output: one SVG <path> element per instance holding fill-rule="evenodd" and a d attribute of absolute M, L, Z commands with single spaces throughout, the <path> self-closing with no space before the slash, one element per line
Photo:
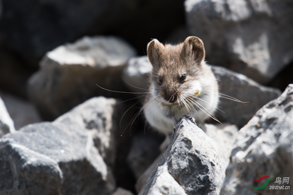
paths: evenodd
<path fill-rule="evenodd" d="M 164 45 L 161 44 L 157 39 L 153 39 L 147 44 L 147 58 L 149 63 L 154 67 L 159 66 L 159 59 L 162 55 Z"/>

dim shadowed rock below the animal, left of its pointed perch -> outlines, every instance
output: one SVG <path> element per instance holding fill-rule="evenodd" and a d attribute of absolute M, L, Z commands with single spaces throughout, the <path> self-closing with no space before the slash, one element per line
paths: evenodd
<path fill-rule="evenodd" d="M 162 140 L 150 134 L 137 134 L 132 138 L 132 144 L 127 156 L 127 163 L 134 176 L 138 179 L 160 154 Z"/>

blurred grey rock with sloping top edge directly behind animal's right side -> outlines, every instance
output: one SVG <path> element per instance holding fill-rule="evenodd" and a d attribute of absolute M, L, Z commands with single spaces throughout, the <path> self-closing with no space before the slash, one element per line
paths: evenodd
<path fill-rule="evenodd" d="M 212 71 L 218 80 L 219 93 L 222 96 L 218 108 L 223 112 L 217 110 L 215 113 L 221 122 L 230 122 L 241 128 L 258 109 L 281 94 L 279 89 L 265 87 L 226 68 L 212 66 Z M 234 98 L 247 103 L 230 100 Z"/>

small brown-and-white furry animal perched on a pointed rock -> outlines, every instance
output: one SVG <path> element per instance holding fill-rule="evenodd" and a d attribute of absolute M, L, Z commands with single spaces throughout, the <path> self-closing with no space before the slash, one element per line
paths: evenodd
<path fill-rule="evenodd" d="M 177 45 L 153 39 L 147 45 L 147 58 L 152 71 L 143 111 L 150 125 L 168 136 L 182 115 L 201 124 L 209 117 L 217 120 L 213 113 L 219 101 L 218 84 L 205 62 L 201 39 L 187 37 Z"/>

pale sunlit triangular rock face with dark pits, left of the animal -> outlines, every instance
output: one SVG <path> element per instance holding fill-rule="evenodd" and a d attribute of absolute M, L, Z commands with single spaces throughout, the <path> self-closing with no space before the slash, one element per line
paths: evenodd
<path fill-rule="evenodd" d="M 116 156 L 116 137 L 123 106 L 113 98 L 93 97 L 54 120 L 61 129 L 88 132 L 105 163 L 113 168 Z"/>

